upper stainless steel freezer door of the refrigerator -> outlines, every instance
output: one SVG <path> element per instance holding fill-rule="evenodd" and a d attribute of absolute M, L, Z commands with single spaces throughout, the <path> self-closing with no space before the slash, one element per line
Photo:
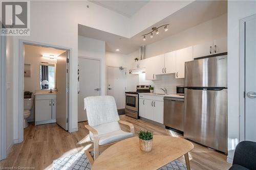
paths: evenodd
<path fill-rule="evenodd" d="M 185 63 L 186 87 L 227 87 L 227 56 Z"/>

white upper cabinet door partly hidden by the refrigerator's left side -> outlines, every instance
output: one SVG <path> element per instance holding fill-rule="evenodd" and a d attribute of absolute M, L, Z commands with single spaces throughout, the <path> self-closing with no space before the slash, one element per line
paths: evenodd
<path fill-rule="evenodd" d="M 176 78 L 185 77 L 185 62 L 193 60 L 193 47 L 176 51 Z"/>

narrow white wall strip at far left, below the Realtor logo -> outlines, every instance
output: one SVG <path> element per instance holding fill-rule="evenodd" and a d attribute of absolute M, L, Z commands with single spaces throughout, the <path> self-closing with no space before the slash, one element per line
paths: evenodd
<path fill-rule="evenodd" d="M 13 144 L 13 69 L 12 69 L 12 63 L 13 63 L 13 37 L 11 36 L 7 36 L 6 38 L 6 47 L 7 47 L 7 51 L 6 51 L 6 83 L 7 83 L 7 93 L 6 93 L 6 104 L 7 104 L 7 108 L 6 108 L 6 146 L 7 146 L 7 150 L 9 150 Z"/>

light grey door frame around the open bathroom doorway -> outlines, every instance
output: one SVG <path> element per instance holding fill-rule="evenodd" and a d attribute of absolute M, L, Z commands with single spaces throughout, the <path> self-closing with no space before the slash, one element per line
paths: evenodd
<path fill-rule="evenodd" d="M 25 44 L 28 45 L 36 45 L 36 46 L 41 46 L 41 47 L 50 47 L 50 48 L 55 48 L 59 50 L 65 50 L 68 51 L 68 56 L 67 59 L 69 60 L 67 64 L 67 69 L 70 70 L 71 66 L 71 54 L 72 54 L 72 48 L 69 47 L 62 47 L 58 45 L 52 45 L 52 44 L 46 44 L 46 43 L 41 43 L 41 42 L 35 42 L 35 41 L 29 41 L 29 40 L 24 40 L 24 39 L 19 39 L 19 59 L 18 59 L 18 142 L 23 142 L 24 140 L 24 115 L 23 115 L 23 110 L 24 110 L 24 50 L 25 50 Z M 69 117 L 69 132 L 72 131 L 71 129 L 71 122 L 72 122 L 72 116 L 71 116 L 71 92 L 70 86 L 70 72 L 68 71 L 68 117 Z"/>

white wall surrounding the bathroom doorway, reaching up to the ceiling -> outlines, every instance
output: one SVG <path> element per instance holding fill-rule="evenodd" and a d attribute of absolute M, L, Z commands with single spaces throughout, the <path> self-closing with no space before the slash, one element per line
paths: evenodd
<path fill-rule="evenodd" d="M 90 8 L 87 8 L 90 5 Z M 46 12 L 47 11 L 47 12 Z M 65 11 L 65 12 L 63 12 Z M 14 139 L 18 139 L 18 58 L 19 40 L 28 40 L 71 48 L 70 56 L 70 109 L 71 129 L 77 126 L 77 59 L 78 23 L 106 32 L 129 37 L 130 19 L 88 1 L 31 1 L 30 36 L 14 37 L 13 47 L 13 111 Z M 8 76 L 10 76 L 8 74 Z"/>

